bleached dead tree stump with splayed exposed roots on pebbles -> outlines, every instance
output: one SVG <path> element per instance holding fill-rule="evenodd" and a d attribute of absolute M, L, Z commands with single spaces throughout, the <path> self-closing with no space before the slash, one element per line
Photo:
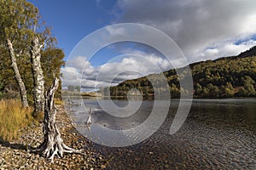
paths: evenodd
<path fill-rule="evenodd" d="M 49 88 L 45 96 L 44 108 L 44 142 L 38 146 L 38 149 L 45 158 L 53 160 L 54 156 L 62 157 L 64 152 L 80 153 L 80 150 L 74 150 L 64 144 L 61 139 L 61 133 L 55 125 L 56 109 L 54 105 L 54 95 L 59 86 L 59 79 L 55 78 L 52 88 Z"/>

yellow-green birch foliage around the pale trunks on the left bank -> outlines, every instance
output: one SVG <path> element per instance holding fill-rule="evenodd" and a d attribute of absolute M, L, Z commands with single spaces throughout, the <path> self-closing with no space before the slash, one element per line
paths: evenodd
<path fill-rule="evenodd" d="M 56 38 L 44 21 L 40 20 L 38 8 L 32 3 L 26 0 L 6 0 L 0 4 L 0 99 L 17 98 L 20 95 L 17 74 L 14 72 L 16 62 L 28 101 L 32 104 L 32 40 L 37 37 L 39 43 L 44 44 L 40 54 L 45 89 L 53 83 L 54 77 L 61 76 L 61 66 L 65 64 L 64 53 L 56 47 Z M 10 57 L 7 41 L 12 45 L 13 58 Z"/>

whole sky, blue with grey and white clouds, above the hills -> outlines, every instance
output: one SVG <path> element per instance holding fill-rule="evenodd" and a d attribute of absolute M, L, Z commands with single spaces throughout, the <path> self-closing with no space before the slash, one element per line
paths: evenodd
<path fill-rule="evenodd" d="M 92 32 L 113 24 L 137 23 L 163 31 L 184 54 L 185 61 L 173 61 L 178 63 L 177 66 L 237 55 L 256 45 L 254 0 L 29 2 L 39 8 L 42 19 L 48 26 L 52 26 L 52 33 L 58 40 L 57 46 L 66 54 L 67 66 L 61 70 L 64 74 L 64 87 L 78 84 L 88 89 L 113 86 L 126 79 L 173 68 L 173 63 L 166 59 L 162 51 L 138 42 L 113 43 L 102 47 L 93 57 L 82 53 L 89 48 L 83 46 L 83 43 Z M 127 27 L 108 27 L 103 30 L 105 33 L 102 37 L 108 35 L 109 40 L 125 37 L 129 32 L 133 37 L 140 37 L 142 42 L 154 42 L 157 39 L 151 34 L 143 37 L 142 32 L 131 30 Z M 107 41 L 106 38 L 101 40 Z M 83 46 L 83 50 L 76 53 L 81 49 L 79 46 Z"/>

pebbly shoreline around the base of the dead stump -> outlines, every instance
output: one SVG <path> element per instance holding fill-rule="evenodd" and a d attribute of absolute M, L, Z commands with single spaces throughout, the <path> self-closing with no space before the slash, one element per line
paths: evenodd
<path fill-rule="evenodd" d="M 11 142 L 0 141 L 0 169 L 104 169 L 108 160 L 94 149 L 94 144 L 73 127 L 63 105 L 55 105 L 57 109 L 56 125 L 61 138 L 67 146 L 84 149 L 83 154 L 65 153 L 62 158 L 55 156 L 54 162 L 37 153 L 28 151 L 43 142 L 43 123 L 33 124 L 20 130 L 18 139 Z"/>

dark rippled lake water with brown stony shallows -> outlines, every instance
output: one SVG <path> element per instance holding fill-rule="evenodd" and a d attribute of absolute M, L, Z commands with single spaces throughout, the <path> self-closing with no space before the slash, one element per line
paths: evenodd
<path fill-rule="evenodd" d="M 81 100 L 73 101 L 79 103 Z M 96 99 L 83 99 L 82 102 L 86 108 L 91 108 L 90 128 L 84 126 L 88 117 L 84 106 L 72 105 L 67 109 L 79 132 L 88 139 L 96 136 L 99 143 L 101 139 L 114 139 L 117 144 L 122 142 L 121 139 L 103 133 L 99 126 L 113 130 L 139 126 L 150 116 L 154 105 L 154 100 L 144 100 L 134 114 L 116 117 L 102 111 Z M 109 100 L 102 99 L 101 102 L 108 103 Z M 113 102 L 122 107 L 128 104 L 126 100 Z M 179 100 L 173 99 L 167 108 L 165 122 L 138 144 L 126 147 L 96 144 L 96 150 L 111 159 L 108 168 L 256 169 L 256 99 L 194 99 L 183 126 L 170 135 L 178 104 Z M 165 105 L 156 108 L 157 114 L 162 114 L 166 109 L 163 107 Z M 139 138 L 137 135 L 130 137 Z"/>

